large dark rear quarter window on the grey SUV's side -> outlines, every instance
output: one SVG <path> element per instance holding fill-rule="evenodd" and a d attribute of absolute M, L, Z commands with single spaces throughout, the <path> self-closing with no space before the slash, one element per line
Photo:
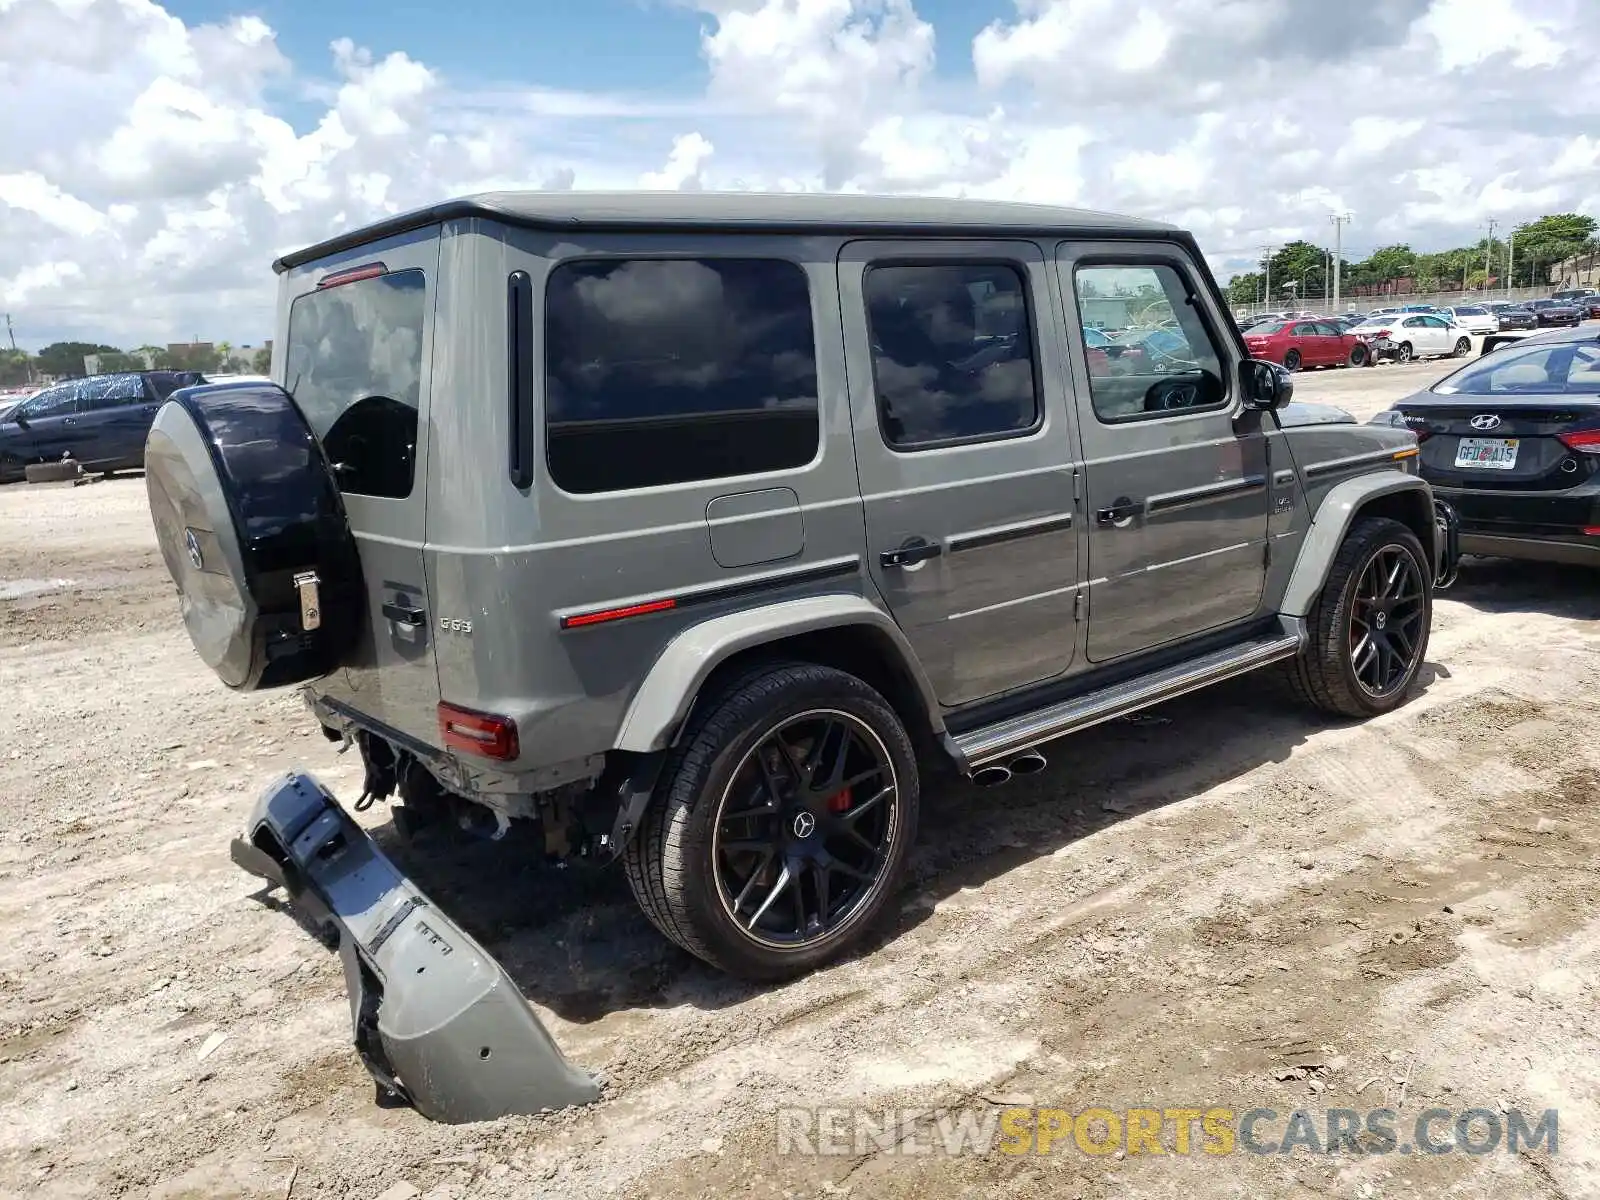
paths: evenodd
<path fill-rule="evenodd" d="M 568 262 L 550 272 L 546 333 L 546 454 L 566 491 L 816 458 L 811 296 L 794 262 Z"/>

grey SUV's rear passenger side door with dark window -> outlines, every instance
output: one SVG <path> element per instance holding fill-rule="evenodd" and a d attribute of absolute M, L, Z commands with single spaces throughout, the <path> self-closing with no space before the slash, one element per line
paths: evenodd
<path fill-rule="evenodd" d="M 1059 675 L 1082 522 L 1043 251 L 856 242 L 838 290 L 867 560 L 939 701 Z"/>

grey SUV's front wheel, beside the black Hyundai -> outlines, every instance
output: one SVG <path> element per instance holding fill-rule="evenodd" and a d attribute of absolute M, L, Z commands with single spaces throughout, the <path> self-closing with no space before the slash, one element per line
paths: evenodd
<path fill-rule="evenodd" d="M 1323 712 L 1392 712 L 1416 683 L 1432 621 L 1434 578 L 1422 542 L 1397 520 L 1362 518 L 1306 618 L 1309 640 L 1290 662 L 1290 680 Z"/>

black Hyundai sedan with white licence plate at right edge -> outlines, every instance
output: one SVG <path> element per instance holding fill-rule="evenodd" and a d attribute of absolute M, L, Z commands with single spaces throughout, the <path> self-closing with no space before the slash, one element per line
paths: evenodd
<path fill-rule="evenodd" d="M 1462 554 L 1600 566 L 1600 336 L 1541 333 L 1373 418 L 1418 435 Z"/>

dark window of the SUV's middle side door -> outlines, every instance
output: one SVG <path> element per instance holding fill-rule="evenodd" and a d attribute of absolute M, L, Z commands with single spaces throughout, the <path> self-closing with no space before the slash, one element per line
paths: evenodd
<path fill-rule="evenodd" d="M 872 267 L 864 290 L 885 442 L 917 450 L 1038 424 L 1027 285 L 1016 267 Z"/>

